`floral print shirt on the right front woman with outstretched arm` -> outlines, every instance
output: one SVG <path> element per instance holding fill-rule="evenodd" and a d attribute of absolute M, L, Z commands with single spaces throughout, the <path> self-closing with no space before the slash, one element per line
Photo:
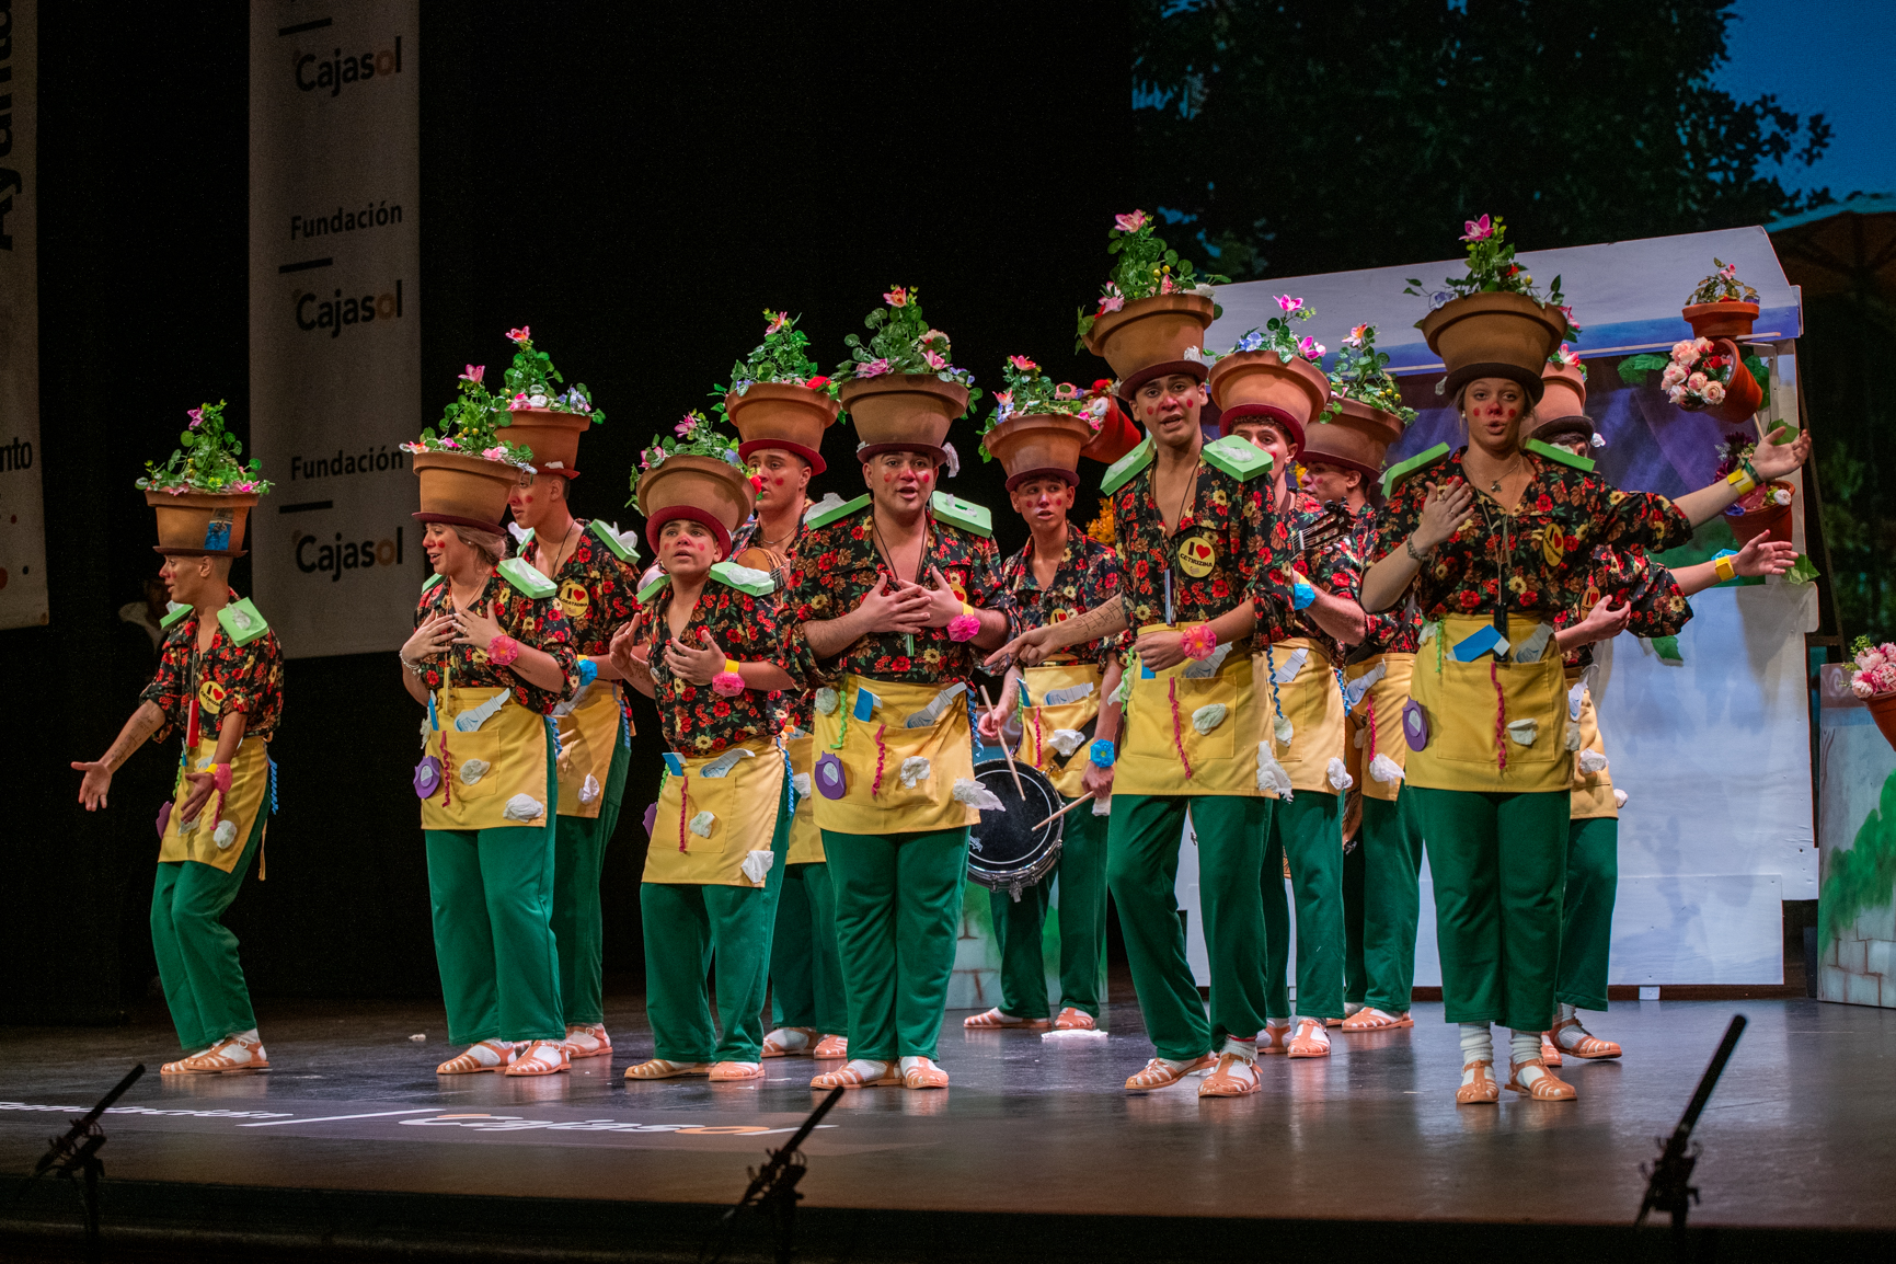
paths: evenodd
<path fill-rule="evenodd" d="M 1390 497 L 1376 517 L 1375 561 L 1403 548 L 1422 521 L 1430 483 L 1468 478 L 1466 453 L 1458 449 Z M 1413 591 L 1424 618 L 1496 610 L 1504 576 L 1507 610 L 1553 616 L 1585 599 L 1596 548 L 1661 551 L 1691 540 L 1691 523 L 1665 497 L 1617 491 L 1568 464 L 1521 455 L 1534 472 L 1515 512 L 1504 512 L 1477 489 L 1471 519 L 1416 574 Z"/>

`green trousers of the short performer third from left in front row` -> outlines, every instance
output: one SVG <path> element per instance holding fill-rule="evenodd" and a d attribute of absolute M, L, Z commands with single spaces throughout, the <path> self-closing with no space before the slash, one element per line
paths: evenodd
<path fill-rule="evenodd" d="M 652 1057 L 665 1061 L 758 1061 L 764 1054 L 764 989 L 770 932 L 791 849 L 791 781 L 777 796 L 770 851 L 777 857 L 762 887 L 641 883 L 645 915 L 645 1016 Z M 717 1016 L 711 1029 L 705 976 L 717 961 Z"/>

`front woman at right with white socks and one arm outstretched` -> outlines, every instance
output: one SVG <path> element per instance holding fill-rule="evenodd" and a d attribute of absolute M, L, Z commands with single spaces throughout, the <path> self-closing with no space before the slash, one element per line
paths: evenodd
<path fill-rule="evenodd" d="M 1466 301 L 1431 313 L 1431 339 Z M 1526 326 L 1534 337 L 1494 324 Z M 1672 502 L 1613 491 L 1566 453 L 1524 451 L 1521 428 L 1562 328 L 1549 305 L 1522 320 L 1469 320 L 1445 343 L 1445 390 L 1469 443 L 1392 497 L 1363 576 L 1365 608 L 1388 610 L 1414 586 L 1426 620 L 1403 714 L 1418 745 L 1405 792 L 1418 800 L 1435 881 L 1445 1016 L 1462 1025 L 1458 1103 L 1500 1097 L 1494 1021 L 1513 1029 L 1507 1088 L 1540 1101 L 1574 1097 L 1540 1052 L 1555 1012 L 1574 769 L 1553 622 L 1583 599 L 1595 546 L 1684 544 L 1693 523 L 1809 455 L 1807 438 L 1759 449 L 1733 479 Z"/>

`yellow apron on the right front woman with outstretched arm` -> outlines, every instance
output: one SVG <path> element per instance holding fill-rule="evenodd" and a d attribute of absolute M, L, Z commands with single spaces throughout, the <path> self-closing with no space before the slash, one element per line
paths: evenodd
<path fill-rule="evenodd" d="M 1416 652 L 1409 695 L 1428 716 L 1428 745 L 1409 754 L 1409 785 L 1494 794 L 1568 790 L 1574 756 L 1566 749 L 1560 648 L 1549 637 L 1538 663 L 1496 663 L 1492 654 L 1473 663 L 1456 661 L 1454 646 L 1490 625 L 1488 616 L 1450 614 Z M 1509 644 L 1519 646 L 1538 625 L 1540 620 L 1509 614 Z M 1496 680 L 1505 697 L 1505 716 L 1496 714 Z M 1498 745 L 1498 720 L 1534 720 L 1534 741 L 1522 743 L 1504 731 Z"/>

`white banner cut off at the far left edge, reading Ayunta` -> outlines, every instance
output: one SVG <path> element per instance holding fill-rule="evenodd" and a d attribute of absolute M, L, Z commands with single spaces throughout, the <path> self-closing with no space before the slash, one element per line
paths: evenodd
<path fill-rule="evenodd" d="M 0 627 L 44 623 L 38 11 L 0 0 Z"/>

